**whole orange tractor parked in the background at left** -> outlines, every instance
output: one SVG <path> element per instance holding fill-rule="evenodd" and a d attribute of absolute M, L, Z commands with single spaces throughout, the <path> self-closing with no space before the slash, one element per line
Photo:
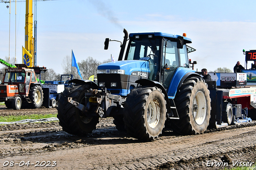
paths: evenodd
<path fill-rule="evenodd" d="M 22 105 L 39 108 L 43 102 L 42 84 L 38 83 L 34 69 L 25 64 L 5 69 L 0 85 L 0 102 L 6 107 L 20 109 Z"/>

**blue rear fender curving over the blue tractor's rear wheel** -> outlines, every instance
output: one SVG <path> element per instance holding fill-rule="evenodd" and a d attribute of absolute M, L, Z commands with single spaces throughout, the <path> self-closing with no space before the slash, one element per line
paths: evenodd
<path fill-rule="evenodd" d="M 174 99 L 177 90 L 181 87 L 182 83 L 187 79 L 188 77 L 199 77 L 202 78 L 198 73 L 195 73 L 191 69 L 186 69 L 179 67 L 170 82 L 170 85 L 168 87 L 168 96 L 170 99 Z"/>

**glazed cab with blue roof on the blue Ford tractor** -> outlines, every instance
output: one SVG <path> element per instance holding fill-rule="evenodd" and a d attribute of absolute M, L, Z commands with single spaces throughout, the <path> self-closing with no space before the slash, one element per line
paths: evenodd
<path fill-rule="evenodd" d="M 158 81 L 168 89 L 172 75 L 178 67 L 190 68 L 186 46 L 191 43 L 186 34 L 178 36 L 162 32 L 130 34 L 124 60 L 148 60 L 149 80 Z M 187 51 L 190 49 L 190 51 Z"/>

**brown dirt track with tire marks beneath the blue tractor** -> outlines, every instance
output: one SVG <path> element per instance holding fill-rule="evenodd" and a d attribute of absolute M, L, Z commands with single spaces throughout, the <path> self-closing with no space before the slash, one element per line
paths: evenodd
<path fill-rule="evenodd" d="M 0 109 L 0 115 L 35 113 L 57 113 L 57 110 Z M 1 125 L 0 167 L 12 170 L 36 169 L 37 165 L 44 169 L 212 170 L 230 168 L 237 161 L 255 162 L 255 146 L 255 122 L 190 136 L 179 136 L 169 129 L 152 142 L 118 132 L 111 118 L 100 119 L 96 130 L 88 136 L 68 134 L 58 122 Z M 224 166 L 207 166 L 222 160 Z M 28 161 L 28 166 L 21 166 Z"/>

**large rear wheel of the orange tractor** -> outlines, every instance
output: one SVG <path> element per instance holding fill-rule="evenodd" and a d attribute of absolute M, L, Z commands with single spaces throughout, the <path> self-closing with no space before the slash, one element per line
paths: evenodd
<path fill-rule="evenodd" d="M 31 107 L 33 109 L 37 109 L 41 107 L 43 103 L 43 98 L 44 98 L 42 87 L 39 85 L 35 85 L 34 87 L 32 87 L 28 94 L 28 97 L 32 102 Z"/>

